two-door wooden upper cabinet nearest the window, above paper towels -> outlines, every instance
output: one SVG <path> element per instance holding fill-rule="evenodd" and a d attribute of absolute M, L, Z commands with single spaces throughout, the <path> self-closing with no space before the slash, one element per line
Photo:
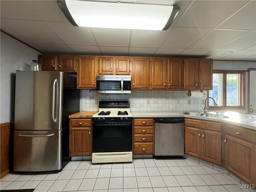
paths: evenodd
<path fill-rule="evenodd" d="M 212 59 L 184 59 L 185 90 L 212 90 Z"/>

